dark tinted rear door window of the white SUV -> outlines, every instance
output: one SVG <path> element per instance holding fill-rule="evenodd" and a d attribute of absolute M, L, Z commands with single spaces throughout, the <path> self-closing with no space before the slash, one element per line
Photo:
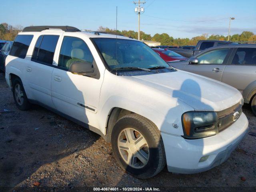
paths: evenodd
<path fill-rule="evenodd" d="M 52 64 L 58 39 L 58 35 L 40 36 L 36 41 L 31 60 L 44 64 Z"/>

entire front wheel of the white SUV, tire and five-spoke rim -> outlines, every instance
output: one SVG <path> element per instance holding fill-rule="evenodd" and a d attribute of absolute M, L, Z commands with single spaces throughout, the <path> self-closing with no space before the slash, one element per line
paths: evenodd
<path fill-rule="evenodd" d="M 111 144 L 120 166 L 137 178 L 155 176 L 166 164 L 160 131 L 138 114 L 128 114 L 116 122 Z"/>

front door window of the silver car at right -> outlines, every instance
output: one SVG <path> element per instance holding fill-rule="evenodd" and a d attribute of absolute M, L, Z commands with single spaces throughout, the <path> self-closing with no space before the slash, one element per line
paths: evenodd
<path fill-rule="evenodd" d="M 216 49 L 197 57 L 199 64 L 222 64 L 229 49 Z"/>

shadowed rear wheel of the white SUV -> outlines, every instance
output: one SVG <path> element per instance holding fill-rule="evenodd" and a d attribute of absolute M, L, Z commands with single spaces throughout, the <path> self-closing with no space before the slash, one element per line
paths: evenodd
<path fill-rule="evenodd" d="M 14 78 L 12 80 L 12 94 L 15 104 L 20 110 L 28 110 L 30 108 L 30 102 L 28 101 L 20 78 Z"/>

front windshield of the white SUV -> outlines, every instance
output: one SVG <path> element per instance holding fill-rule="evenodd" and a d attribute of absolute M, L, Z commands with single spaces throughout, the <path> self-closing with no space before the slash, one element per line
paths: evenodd
<path fill-rule="evenodd" d="M 158 54 L 140 41 L 94 38 L 94 42 L 111 70 L 127 67 L 144 69 L 156 66 L 169 67 Z"/>

